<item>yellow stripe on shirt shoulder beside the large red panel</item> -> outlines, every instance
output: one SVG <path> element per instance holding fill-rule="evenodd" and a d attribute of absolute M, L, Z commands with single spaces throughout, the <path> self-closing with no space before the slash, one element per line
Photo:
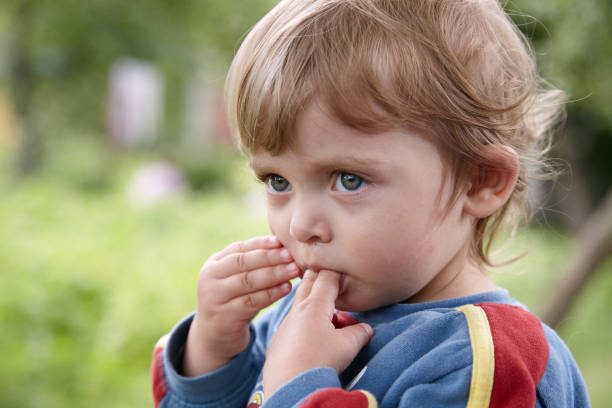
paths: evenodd
<path fill-rule="evenodd" d="M 489 321 L 484 310 L 478 306 L 464 305 L 456 310 L 465 315 L 472 343 L 472 380 L 467 408 L 488 408 L 495 373 L 493 337 Z"/>

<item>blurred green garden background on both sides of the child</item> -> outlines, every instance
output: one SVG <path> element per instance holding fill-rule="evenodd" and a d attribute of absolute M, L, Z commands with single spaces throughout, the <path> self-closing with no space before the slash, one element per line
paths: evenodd
<path fill-rule="evenodd" d="M 0 3 L 0 407 L 152 406 L 152 348 L 195 307 L 200 266 L 267 232 L 221 89 L 273 3 Z M 528 255 L 496 276 L 539 313 L 612 184 L 612 3 L 506 7 L 570 97 L 564 175 L 506 249 Z M 117 72 L 144 85 L 130 94 Z M 597 407 L 612 406 L 605 255 L 558 327 Z"/>

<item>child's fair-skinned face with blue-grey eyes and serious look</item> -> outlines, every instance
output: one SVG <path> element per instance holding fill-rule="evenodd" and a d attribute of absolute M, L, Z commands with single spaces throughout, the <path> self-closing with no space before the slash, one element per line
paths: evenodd
<path fill-rule="evenodd" d="M 290 149 L 252 158 L 271 231 L 297 264 L 343 275 L 341 310 L 455 295 L 472 221 L 462 197 L 445 213 L 436 146 L 406 130 L 362 133 L 317 104 L 298 119 Z"/>

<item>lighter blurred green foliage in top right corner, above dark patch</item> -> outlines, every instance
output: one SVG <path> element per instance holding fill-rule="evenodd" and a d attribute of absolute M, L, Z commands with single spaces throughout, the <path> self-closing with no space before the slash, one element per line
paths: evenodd
<path fill-rule="evenodd" d="M 524 26 L 542 73 L 565 90 L 570 111 L 587 109 L 612 126 L 612 4 L 606 0 L 515 1 L 537 21 Z"/>

